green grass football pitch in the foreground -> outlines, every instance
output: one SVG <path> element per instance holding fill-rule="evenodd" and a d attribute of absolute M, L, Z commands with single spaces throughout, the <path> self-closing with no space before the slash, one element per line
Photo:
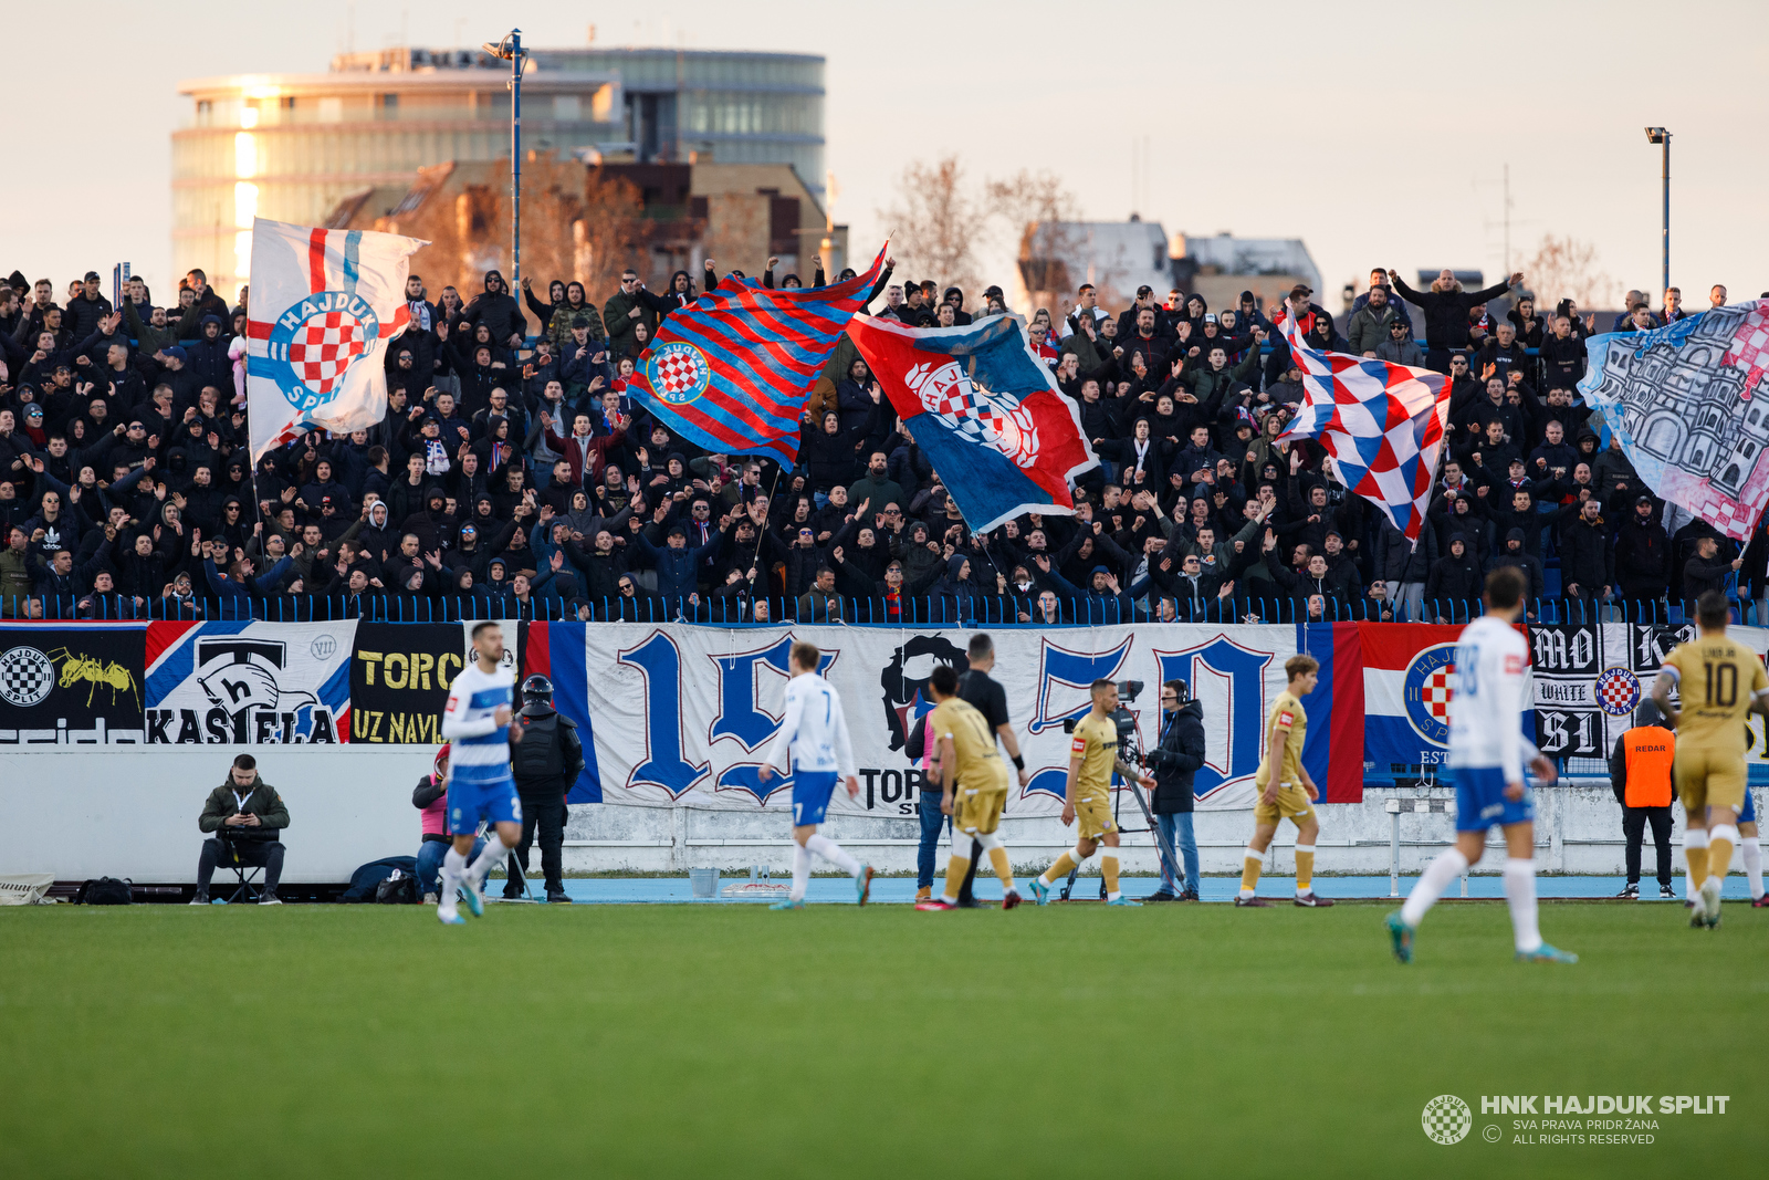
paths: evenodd
<path fill-rule="evenodd" d="M 0 1176 L 1760 1166 L 1769 911 L 1702 932 L 1544 906 L 1571 968 L 1514 964 L 1482 902 L 1433 911 L 1403 968 L 1385 911 L 0 909 Z M 1421 1125 L 1444 1093 L 1474 1111 L 1449 1146 Z M 1481 1113 L 1550 1093 L 1728 1104 L 1652 1129 Z"/>

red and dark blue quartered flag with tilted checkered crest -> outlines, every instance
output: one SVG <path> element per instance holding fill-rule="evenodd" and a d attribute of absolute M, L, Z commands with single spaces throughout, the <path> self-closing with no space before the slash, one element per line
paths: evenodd
<path fill-rule="evenodd" d="M 856 315 L 847 334 L 971 529 L 1076 511 L 1068 485 L 1099 458 L 1019 320 L 913 329 Z"/>

